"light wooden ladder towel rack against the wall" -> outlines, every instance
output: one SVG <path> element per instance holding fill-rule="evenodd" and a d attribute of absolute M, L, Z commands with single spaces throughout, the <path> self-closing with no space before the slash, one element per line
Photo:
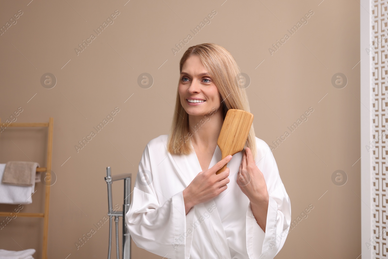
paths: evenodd
<path fill-rule="evenodd" d="M 37 122 L 37 123 L 10 123 L 7 127 L 48 127 L 48 139 L 47 139 L 47 166 L 37 167 L 36 172 L 46 172 L 48 181 L 45 181 L 45 212 L 44 213 L 23 213 L 19 212 L 19 217 L 43 217 L 43 249 L 42 259 L 47 259 L 47 234 L 49 231 L 49 205 L 50 205 L 50 182 L 51 182 L 51 161 L 52 161 L 52 135 L 53 135 L 53 123 L 54 118 L 50 117 L 49 122 Z M 1 127 L 0 118 L 0 127 Z M 0 179 L 1 181 L 1 179 Z M 11 216 L 12 212 L 0 212 L 0 217 Z"/>

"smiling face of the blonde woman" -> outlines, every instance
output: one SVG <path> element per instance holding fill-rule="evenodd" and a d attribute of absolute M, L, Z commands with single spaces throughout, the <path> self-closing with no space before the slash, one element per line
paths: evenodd
<path fill-rule="evenodd" d="M 212 111 L 213 107 L 217 110 L 220 108 L 217 85 L 213 83 L 198 56 L 192 55 L 185 61 L 180 78 L 180 103 L 189 115 L 205 115 Z"/>

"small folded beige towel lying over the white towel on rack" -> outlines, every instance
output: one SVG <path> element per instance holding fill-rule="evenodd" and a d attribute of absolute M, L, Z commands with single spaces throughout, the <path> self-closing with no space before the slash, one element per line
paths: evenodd
<path fill-rule="evenodd" d="M 34 182 L 36 182 L 36 177 L 40 175 L 36 172 L 36 167 L 39 167 L 39 163 L 9 161 L 5 165 L 2 183 L 18 186 L 33 186 Z"/>

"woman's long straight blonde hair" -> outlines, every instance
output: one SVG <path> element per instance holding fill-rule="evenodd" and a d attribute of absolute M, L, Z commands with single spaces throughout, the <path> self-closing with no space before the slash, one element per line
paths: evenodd
<path fill-rule="evenodd" d="M 237 76 L 240 73 L 240 68 L 227 49 L 215 43 L 202 43 L 189 47 L 180 59 L 180 72 L 182 72 L 182 66 L 185 61 L 192 55 L 199 57 L 203 66 L 210 73 L 211 79 L 215 85 L 217 85 L 218 92 L 220 93 L 220 100 L 223 100 L 220 108 L 222 109 L 224 119 L 229 109 L 239 109 L 250 112 L 246 90 L 239 87 L 238 83 L 239 79 Z M 188 139 L 186 139 L 187 136 L 189 136 Z M 177 90 L 175 112 L 170 134 L 168 135 L 167 151 L 173 155 L 189 155 L 194 151 L 191 148 L 191 136 L 192 133 L 189 129 L 189 115 L 180 103 L 180 96 Z M 255 159 L 257 152 L 253 124 L 249 130 L 244 149 L 246 147 L 251 149 L 253 159 Z"/>

